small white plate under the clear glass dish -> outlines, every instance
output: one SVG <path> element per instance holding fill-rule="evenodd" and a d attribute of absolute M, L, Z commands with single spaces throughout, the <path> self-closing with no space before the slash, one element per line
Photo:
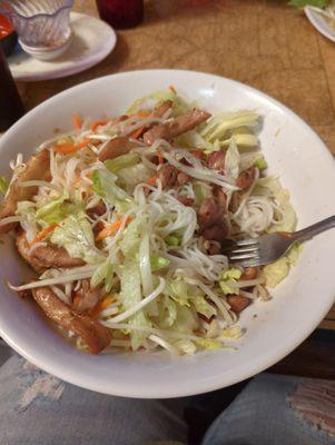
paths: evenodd
<path fill-rule="evenodd" d="M 115 48 L 117 36 L 111 27 L 95 17 L 71 12 L 72 41 L 58 59 L 36 60 L 17 46 L 8 58 L 16 80 L 37 81 L 58 79 L 85 71 L 104 60 Z"/>

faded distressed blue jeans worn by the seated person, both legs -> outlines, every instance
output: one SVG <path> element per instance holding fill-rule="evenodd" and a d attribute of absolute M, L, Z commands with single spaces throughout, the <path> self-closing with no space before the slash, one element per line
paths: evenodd
<path fill-rule="evenodd" d="M 197 397 L 141 400 L 78 388 L 0 343 L 1 445 L 186 444 Z M 203 445 L 335 445 L 335 383 L 260 374 L 209 426 Z"/>

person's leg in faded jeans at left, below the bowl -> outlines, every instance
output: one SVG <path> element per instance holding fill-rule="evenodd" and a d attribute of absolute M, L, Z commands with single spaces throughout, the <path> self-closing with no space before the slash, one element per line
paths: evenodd
<path fill-rule="evenodd" d="M 0 359 L 9 348 L 0 345 Z M 0 367 L 1 445 L 186 443 L 183 400 L 111 397 L 66 384 L 12 354 Z"/>

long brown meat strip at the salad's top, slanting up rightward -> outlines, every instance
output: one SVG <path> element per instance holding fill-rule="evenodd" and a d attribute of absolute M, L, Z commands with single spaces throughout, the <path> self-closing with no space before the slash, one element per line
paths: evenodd
<path fill-rule="evenodd" d="M 144 141 L 150 146 L 156 139 L 174 139 L 186 131 L 193 130 L 209 117 L 209 112 L 195 108 L 186 115 L 171 119 L 166 123 L 159 123 L 146 131 L 144 135 Z"/>

